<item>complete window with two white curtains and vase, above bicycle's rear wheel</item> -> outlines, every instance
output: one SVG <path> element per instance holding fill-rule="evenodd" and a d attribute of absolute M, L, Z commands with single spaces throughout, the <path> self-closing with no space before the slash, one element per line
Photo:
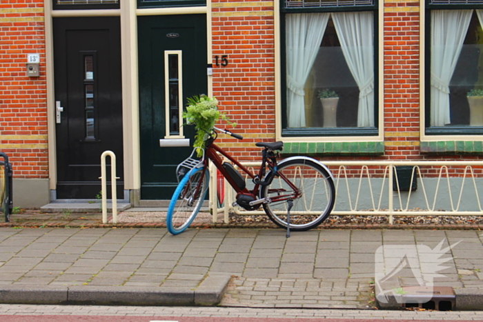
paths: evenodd
<path fill-rule="evenodd" d="M 377 134 L 375 3 L 315 3 L 286 0 L 282 135 Z"/>

